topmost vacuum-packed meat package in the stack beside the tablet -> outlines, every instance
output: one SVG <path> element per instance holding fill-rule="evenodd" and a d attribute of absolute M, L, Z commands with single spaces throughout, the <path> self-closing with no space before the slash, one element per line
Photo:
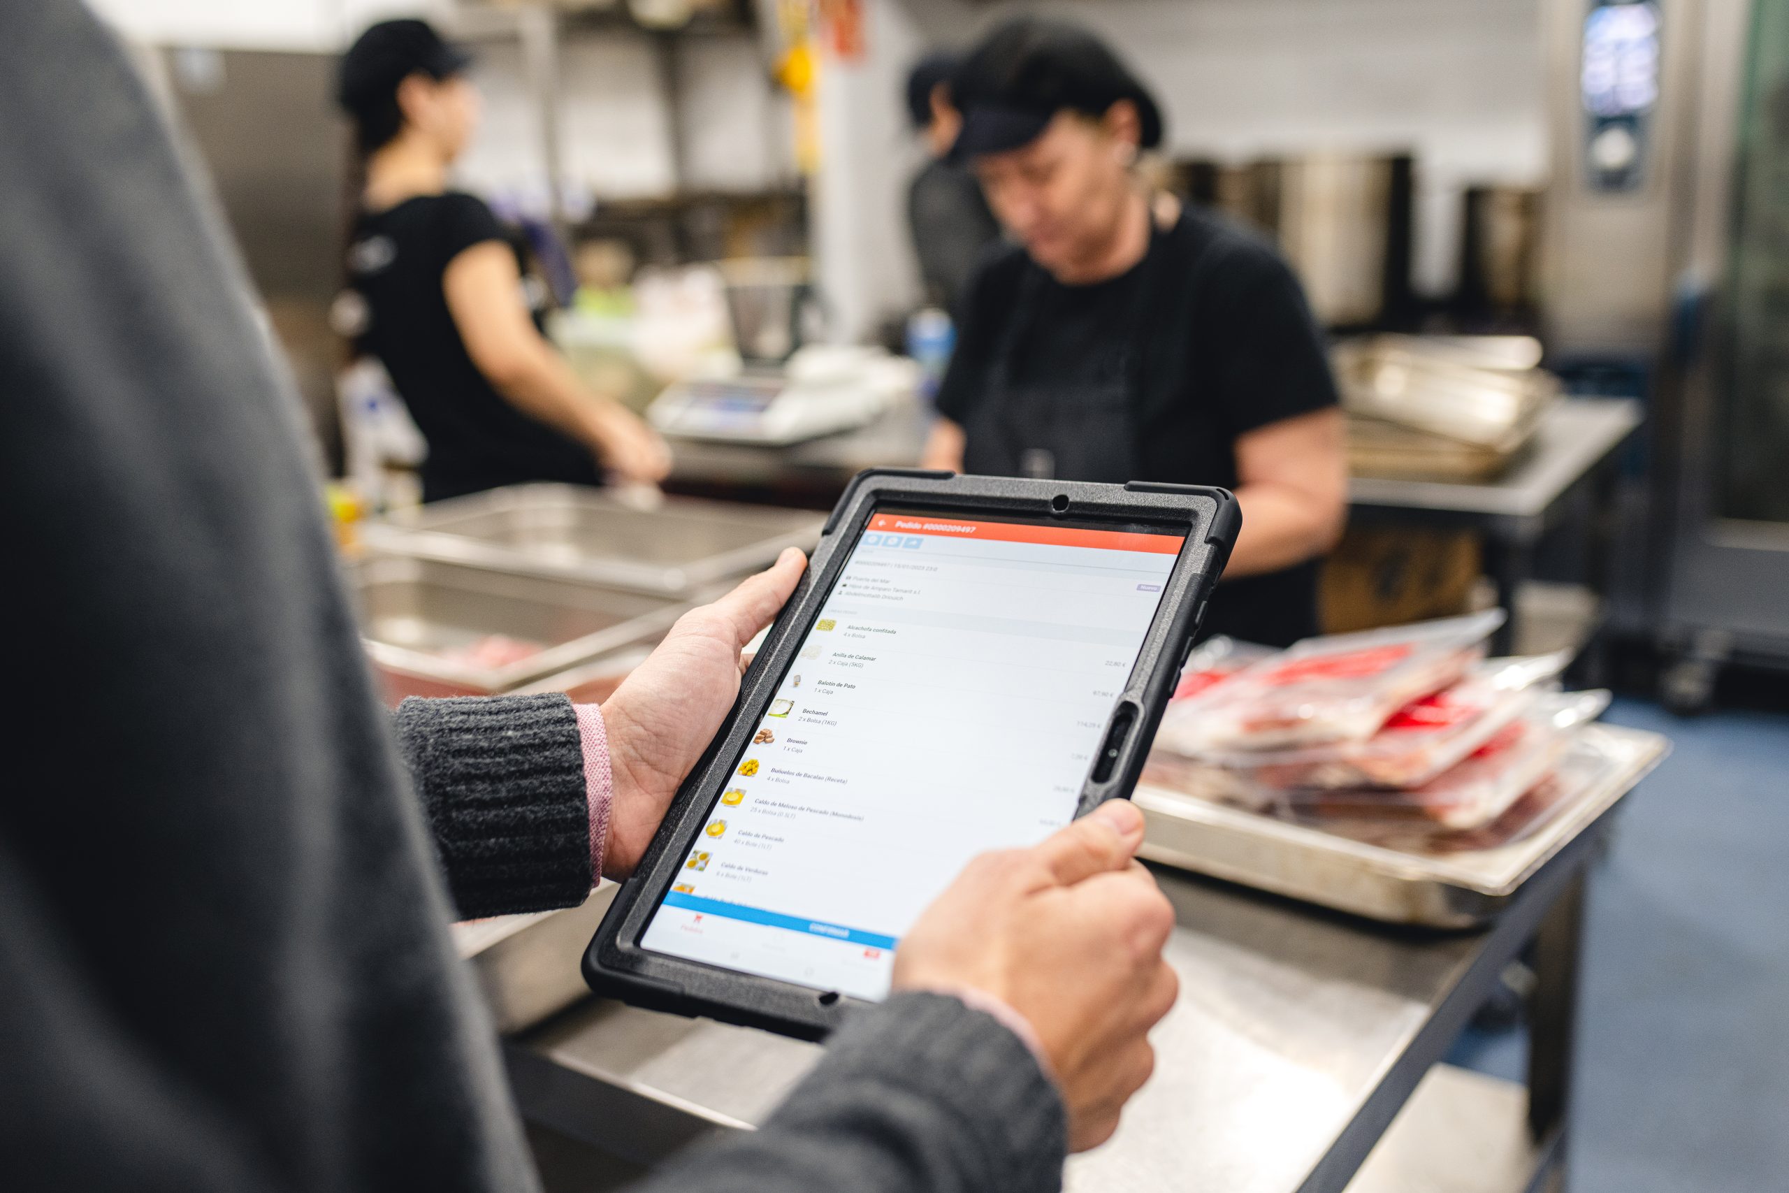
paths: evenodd
<path fill-rule="evenodd" d="M 1157 740 L 1202 757 L 1365 740 L 1485 656 L 1503 610 L 1306 639 L 1168 706 Z"/>

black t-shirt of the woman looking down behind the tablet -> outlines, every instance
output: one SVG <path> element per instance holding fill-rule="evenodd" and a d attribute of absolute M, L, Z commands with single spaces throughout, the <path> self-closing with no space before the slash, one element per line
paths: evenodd
<path fill-rule="evenodd" d="M 941 413 L 973 427 L 995 385 L 1098 393 L 1129 370 L 1129 410 L 1113 426 L 1132 438 L 1131 479 L 1234 488 L 1242 435 L 1336 404 L 1297 277 L 1270 247 L 1199 211 L 1157 231 L 1145 261 L 1090 286 L 1057 283 L 1022 249 L 1000 250 L 970 283 L 959 320 Z M 1073 458 L 1064 444 L 1059 460 Z M 1072 470 L 1059 474 L 1109 479 Z M 1224 583 L 1204 633 L 1270 646 L 1317 633 L 1317 563 Z"/>

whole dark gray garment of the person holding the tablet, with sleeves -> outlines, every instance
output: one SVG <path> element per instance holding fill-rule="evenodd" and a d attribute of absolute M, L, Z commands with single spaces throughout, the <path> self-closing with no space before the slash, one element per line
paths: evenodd
<path fill-rule="evenodd" d="M 467 914 L 583 894 L 571 708 L 411 706 L 417 800 L 249 309 L 120 50 L 7 5 L 0 1184 L 533 1189 L 442 862 Z M 1011 1034 L 902 996 L 660 1188 L 1052 1189 L 1063 1138 Z"/>

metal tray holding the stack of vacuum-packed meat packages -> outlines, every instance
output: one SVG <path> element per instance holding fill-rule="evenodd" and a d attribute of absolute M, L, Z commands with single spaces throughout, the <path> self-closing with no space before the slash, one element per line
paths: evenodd
<path fill-rule="evenodd" d="M 1658 733 L 1585 726 L 1562 773 L 1573 791 L 1535 832 L 1488 850 L 1415 853 L 1140 785 L 1141 855 L 1242 885 L 1386 923 L 1467 928 L 1492 919 L 1522 884 L 1607 816 L 1669 753 Z"/>

